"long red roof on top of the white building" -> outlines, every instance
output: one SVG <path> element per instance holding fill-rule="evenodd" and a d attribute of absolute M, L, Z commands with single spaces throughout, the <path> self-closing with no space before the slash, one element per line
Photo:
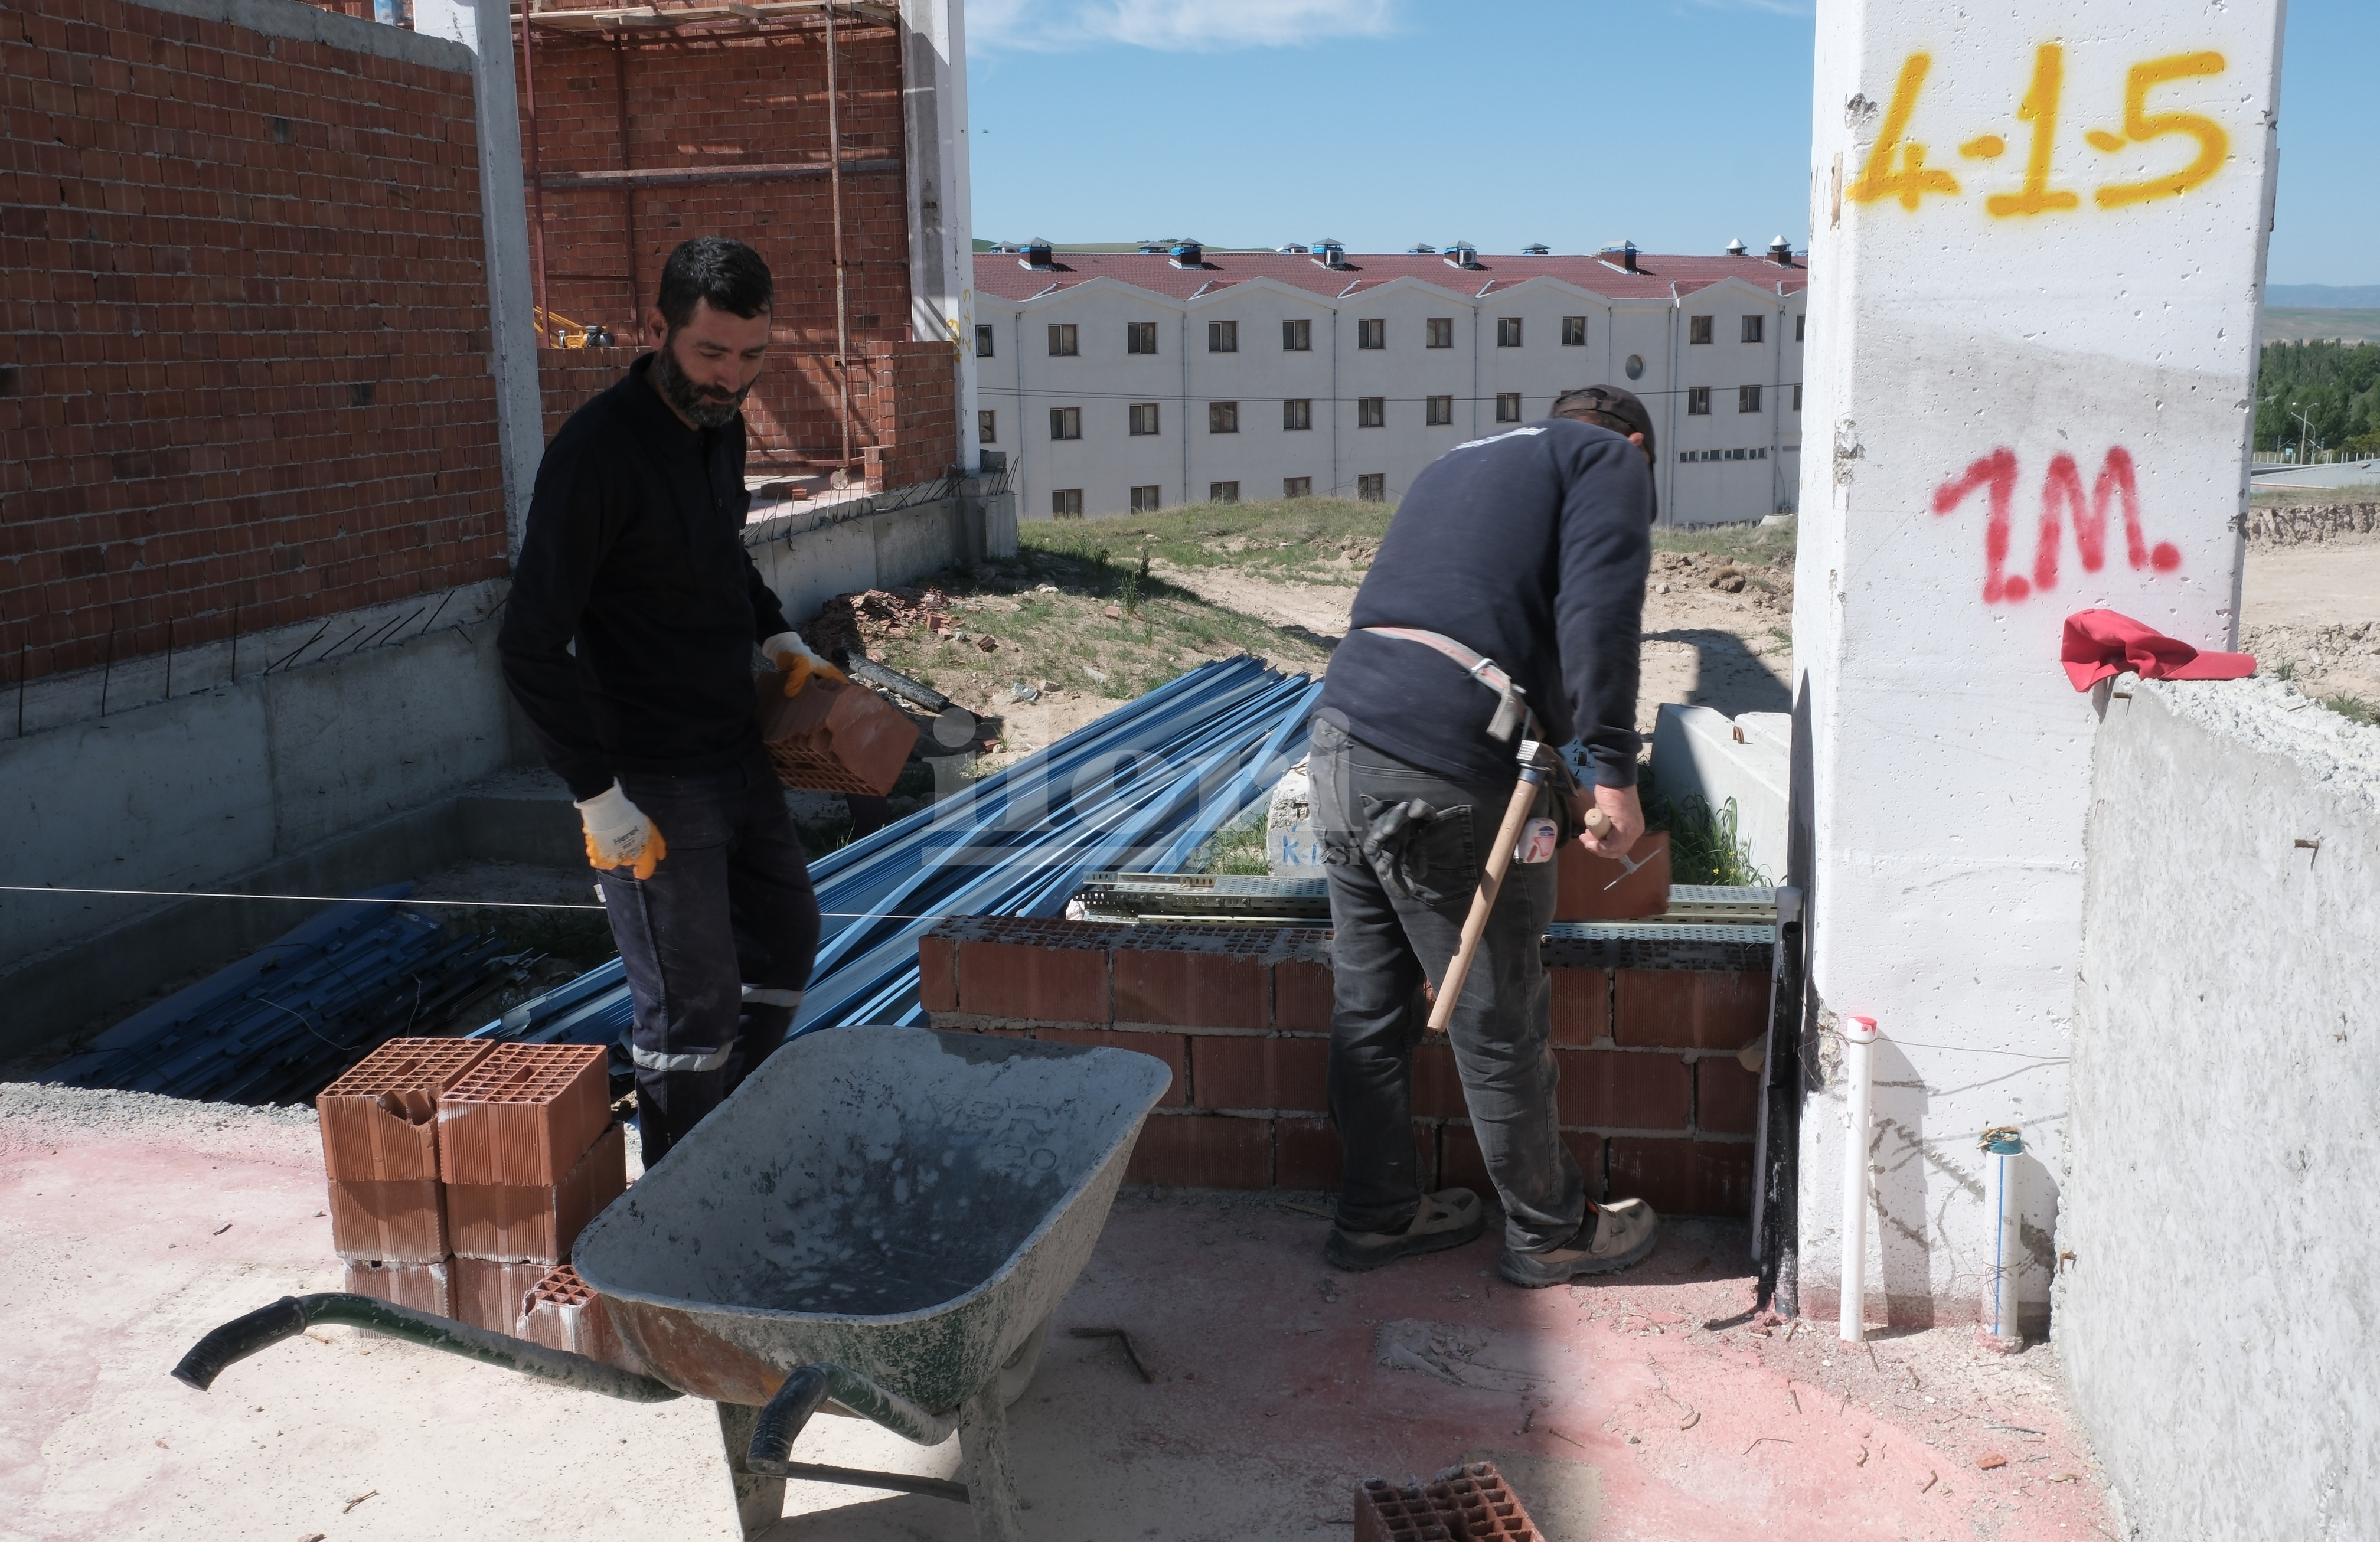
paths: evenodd
<path fill-rule="evenodd" d="M 1671 283 L 1683 295 L 1721 278 L 1742 278 L 1768 293 L 1783 283 L 1787 295 L 1809 288 L 1809 269 L 1802 267 L 1802 259 L 1787 269 L 1756 255 L 1656 257 L 1640 252 L 1637 271 L 1623 274 L 1597 257 L 1490 257 L 1485 252 L 1473 269 L 1452 267 L 1445 257 L 1409 252 L 1385 257 L 1349 252 L 1342 269 L 1326 269 L 1299 252 L 1209 252 L 1204 271 L 1178 269 L 1169 257 L 1154 252 L 1057 252 L 1047 269 L 1023 267 L 1019 252 L 976 252 L 976 293 L 1000 300 L 1031 300 L 1052 286 L 1066 290 L 1092 278 L 1114 278 L 1176 300 L 1188 300 L 1200 288 L 1214 293 L 1250 278 L 1273 278 L 1316 295 L 1338 295 L 1349 283 L 1361 295 L 1395 278 L 1418 278 L 1464 295 L 1478 295 L 1480 288 L 1488 288 L 1490 297 L 1495 290 L 1530 278 L 1561 278 L 1609 300 L 1668 300 Z"/>

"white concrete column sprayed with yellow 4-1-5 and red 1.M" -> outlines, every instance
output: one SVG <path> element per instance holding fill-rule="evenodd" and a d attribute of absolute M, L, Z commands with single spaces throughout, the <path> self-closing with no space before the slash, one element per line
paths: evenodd
<path fill-rule="evenodd" d="M 1973 1316 L 1975 1147 L 2002 1123 L 2028 1147 L 2023 1297 L 2047 1302 L 2097 726 L 2059 633 L 2109 607 L 2235 635 L 2280 10 L 1818 2 L 1804 1314 L 1840 1278 L 1837 1014 L 1883 1028 L 1868 1321 L 1873 1283 L 1894 1318 Z"/>

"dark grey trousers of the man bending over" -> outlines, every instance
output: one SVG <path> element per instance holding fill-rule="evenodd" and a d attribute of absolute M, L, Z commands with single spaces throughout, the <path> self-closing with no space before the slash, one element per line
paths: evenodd
<path fill-rule="evenodd" d="M 1330 1118 L 1345 1149 L 1338 1223 L 1402 1230 L 1421 1202 L 1414 1047 L 1428 1014 L 1418 988 L 1423 976 L 1442 980 L 1454 959 L 1511 788 L 1452 783 L 1323 721 L 1314 723 L 1309 769 L 1335 928 Z M 1428 804 L 1428 816 L 1414 802 Z M 1545 792 L 1537 811 L 1549 814 L 1549 802 Z M 1392 819 L 1399 807 L 1407 814 Z M 1366 833 L 1376 835 L 1371 854 Z M 1504 1204 L 1504 1240 L 1516 1252 L 1561 1247 L 1587 1211 L 1554 1116 L 1552 980 L 1537 957 L 1554 919 L 1554 869 L 1540 861 L 1507 871 L 1447 1023 L 1471 1128 Z"/>

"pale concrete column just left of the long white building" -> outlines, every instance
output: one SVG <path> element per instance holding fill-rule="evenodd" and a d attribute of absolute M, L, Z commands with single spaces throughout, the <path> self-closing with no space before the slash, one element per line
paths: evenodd
<path fill-rule="evenodd" d="M 966 181 L 966 17 L 962 0 L 902 0 L 902 121 L 909 169 L 909 336 L 950 338 L 957 462 L 976 443 L 976 226 Z"/>

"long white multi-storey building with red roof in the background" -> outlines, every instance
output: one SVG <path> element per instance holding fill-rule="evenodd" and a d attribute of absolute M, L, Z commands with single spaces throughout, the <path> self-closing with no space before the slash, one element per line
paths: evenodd
<path fill-rule="evenodd" d="M 978 440 L 1023 519 L 1376 497 L 1578 386 L 1656 424 L 1664 524 L 1792 512 L 1809 269 L 1768 255 L 976 255 Z"/>

